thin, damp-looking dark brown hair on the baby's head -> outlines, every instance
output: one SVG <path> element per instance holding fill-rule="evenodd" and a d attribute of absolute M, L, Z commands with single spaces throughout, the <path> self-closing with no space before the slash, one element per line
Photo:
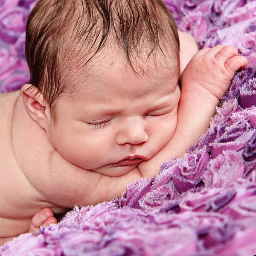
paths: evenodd
<path fill-rule="evenodd" d="M 58 96 L 75 91 L 77 74 L 86 77 L 92 68 L 88 63 L 106 49 L 123 52 L 138 76 L 148 71 L 149 59 L 157 68 L 159 54 L 179 67 L 177 28 L 161 0 L 40 0 L 36 4 L 26 27 L 29 83 L 42 93 L 51 117 Z M 102 54 L 100 61 L 109 55 Z"/>

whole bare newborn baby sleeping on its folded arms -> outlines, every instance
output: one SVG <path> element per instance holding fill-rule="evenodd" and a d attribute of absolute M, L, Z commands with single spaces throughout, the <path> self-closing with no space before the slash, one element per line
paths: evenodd
<path fill-rule="evenodd" d="M 247 59 L 220 45 L 195 54 L 179 35 L 161 0 L 37 3 L 29 84 L 0 95 L 2 244 L 120 196 L 207 129 Z"/>

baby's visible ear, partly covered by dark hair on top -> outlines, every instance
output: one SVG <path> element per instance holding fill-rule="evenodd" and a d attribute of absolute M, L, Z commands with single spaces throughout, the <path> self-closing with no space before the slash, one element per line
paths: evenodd
<path fill-rule="evenodd" d="M 24 84 L 20 89 L 20 94 L 29 116 L 47 130 L 49 108 L 43 94 L 32 84 Z"/>

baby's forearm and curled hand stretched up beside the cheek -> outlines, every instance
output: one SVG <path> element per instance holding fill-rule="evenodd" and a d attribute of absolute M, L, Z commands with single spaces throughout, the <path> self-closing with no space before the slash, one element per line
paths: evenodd
<path fill-rule="evenodd" d="M 140 163 L 143 176 L 157 175 L 161 164 L 180 157 L 209 126 L 221 97 L 227 92 L 237 70 L 248 64 L 230 46 L 205 48 L 189 62 L 181 77 L 181 96 L 175 134 L 150 160 Z"/>

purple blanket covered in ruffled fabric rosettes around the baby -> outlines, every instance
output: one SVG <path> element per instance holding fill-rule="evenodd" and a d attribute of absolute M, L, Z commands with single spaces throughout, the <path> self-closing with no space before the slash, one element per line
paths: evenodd
<path fill-rule="evenodd" d="M 2 92 L 29 79 L 24 30 L 32 2 L 0 1 Z M 256 254 L 256 1 L 165 3 L 201 47 L 230 44 L 249 60 L 210 128 L 157 177 L 130 184 L 111 202 L 75 207 L 58 225 L 5 244 L 1 256 Z"/>

